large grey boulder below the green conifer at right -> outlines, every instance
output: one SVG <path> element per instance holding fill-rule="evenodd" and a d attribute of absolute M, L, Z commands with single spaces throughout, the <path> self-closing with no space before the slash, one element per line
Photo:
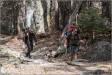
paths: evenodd
<path fill-rule="evenodd" d="M 111 60 L 111 43 L 106 41 L 96 42 L 88 46 L 87 52 L 83 57 L 92 61 Z"/>

